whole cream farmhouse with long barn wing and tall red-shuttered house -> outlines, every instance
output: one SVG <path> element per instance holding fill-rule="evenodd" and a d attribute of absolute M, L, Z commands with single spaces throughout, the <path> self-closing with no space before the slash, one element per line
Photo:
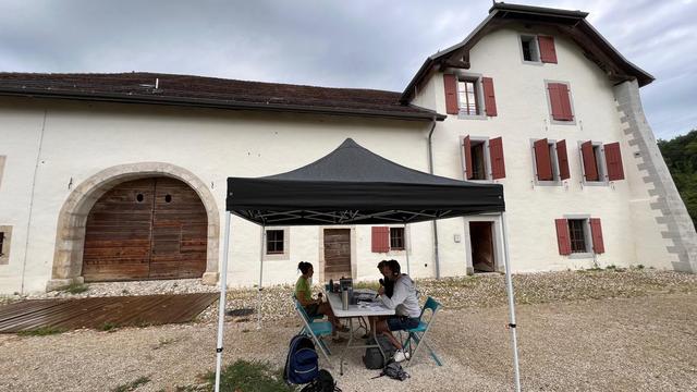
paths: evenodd
<path fill-rule="evenodd" d="M 504 187 L 514 272 L 697 271 L 697 235 L 644 117 L 653 81 L 587 13 L 494 3 L 403 91 L 157 73 L 0 73 L 0 293 L 200 278 L 249 286 L 503 270 L 501 221 L 259 226 L 228 176 L 283 173 L 346 138 L 402 166 Z M 342 148 L 357 148 L 344 145 Z"/>

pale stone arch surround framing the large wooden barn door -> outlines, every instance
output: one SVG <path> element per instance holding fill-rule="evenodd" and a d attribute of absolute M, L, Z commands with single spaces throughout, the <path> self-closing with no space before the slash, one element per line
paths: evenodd
<path fill-rule="evenodd" d="M 70 194 L 58 218 L 51 280 L 47 290 L 82 283 L 83 248 L 87 215 L 97 200 L 115 185 L 149 176 L 169 176 L 191 186 L 200 197 L 208 216 L 207 260 L 203 281 L 218 281 L 220 215 L 216 199 L 206 184 L 186 169 L 162 162 L 120 164 L 105 169 L 85 180 Z"/>

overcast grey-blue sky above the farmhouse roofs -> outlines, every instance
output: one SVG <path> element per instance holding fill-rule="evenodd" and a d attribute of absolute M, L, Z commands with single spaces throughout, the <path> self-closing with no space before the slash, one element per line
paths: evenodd
<path fill-rule="evenodd" d="M 523 1 L 516 1 L 523 3 Z M 537 1 L 589 22 L 657 79 L 659 138 L 697 127 L 697 1 Z M 0 0 L 0 72 L 148 71 L 402 91 L 487 0 Z"/>

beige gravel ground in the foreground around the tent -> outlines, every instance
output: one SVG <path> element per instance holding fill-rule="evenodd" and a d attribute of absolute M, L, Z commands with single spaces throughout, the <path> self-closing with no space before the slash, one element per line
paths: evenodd
<path fill-rule="evenodd" d="M 517 309 L 524 390 L 686 391 L 697 385 L 697 294 L 521 305 Z M 420 356 L 409 391 L 501 391 L 512 381 L 505 307 L 443 310 L 432 342 L 445 366 Z M 281 366 L 294 319 L 229 322 L 225 362 L 265 359 Z M 212 323 L 75 331 L 51 336 L 0 335 L 0 390 L 109 391 L 142 376 L 138 391 L 197 383 L 215 366 Z M 338 354 L 334 348 L 334 364 Z M 394 390 L 369 380 L 358 351 L 338 377 L 344 391 Z M 423 353 L 424 354 L 424 353 Z M 338 369 L 333 371 L 338 376 Z"/>

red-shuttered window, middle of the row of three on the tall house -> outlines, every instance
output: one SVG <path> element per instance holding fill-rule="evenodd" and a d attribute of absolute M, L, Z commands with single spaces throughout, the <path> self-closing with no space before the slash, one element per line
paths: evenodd
<path fill-rule="evenodd" d="M 535 181 L 538 185 L 561 185 L 570 175 L 566 140 L 531 140 Z"/>

